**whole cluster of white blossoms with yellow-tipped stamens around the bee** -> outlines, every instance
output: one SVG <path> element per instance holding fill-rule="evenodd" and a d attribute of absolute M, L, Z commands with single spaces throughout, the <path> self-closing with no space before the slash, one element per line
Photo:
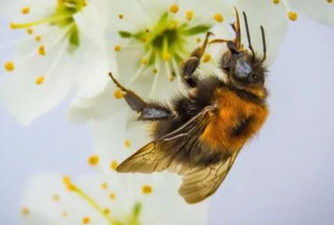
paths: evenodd
<path fill-rule="evenodd" d="M 28 126 L 70 98 L 68 119 L 85 123 L 92 134 L 88 163 L 97 175 L 74 182 L 41 174 L 28 182 L 21 214 L 27 224 L 43 225 L 204 225 L 207 202 L 187 205 L 177 193 L 180 178 L 116 174 L 118 163 L 147 137 L 129 128 L 122 93 L 107 73 L 143 97 L 168 96 L 178 88 L 180 64 L 207 32 L 233 36 L 233 7 L 247 13 L 255 50 L 262 49 L 260 25 L 266 30 L 269 65 L 301 15 L 334 25 L 332 0 L 3 0 L 0 5 L 8 24 L 1 28 L 4 39 L 8 34 L 1 39 L 3 106 Z M 209 46 L 200 69 L 214 71 L 221 54 L 220 47 Z"/>

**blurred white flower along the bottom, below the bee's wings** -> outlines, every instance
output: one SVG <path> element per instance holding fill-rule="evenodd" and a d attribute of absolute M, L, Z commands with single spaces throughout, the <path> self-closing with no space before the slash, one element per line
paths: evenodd
<path fill-rule="evenodd" d="M 177 196 L 169 175 L 104 177 L 44 173 L 25 189 L 21 216 L 27 225 L 206 225 L 207 204 Z"/>

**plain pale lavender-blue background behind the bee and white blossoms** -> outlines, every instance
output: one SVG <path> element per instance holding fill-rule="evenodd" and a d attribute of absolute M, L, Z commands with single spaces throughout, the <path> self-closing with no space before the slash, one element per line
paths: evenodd
<path fill-rule="evenodd" d="M 268 79 L 271 116 L 213 197 L 211 225 L 334 224 L 333 42 L 334 29 L 291 24 Z M 0 225 L 20 224 L 30 174 L 88 170 L 89 135 L 66 108 L 21 128 L 0 106 Z"/>

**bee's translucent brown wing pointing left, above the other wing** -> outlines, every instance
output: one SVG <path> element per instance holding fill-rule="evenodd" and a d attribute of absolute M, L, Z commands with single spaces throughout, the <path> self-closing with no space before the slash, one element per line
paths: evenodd
<path fill-rule="evenodd" d="M 185 142 L 189 141 L 190 137 L 192 137 L 192 132 L 201 126 L 201 121 L 213 109 L 213 107 L 208 106 L 180 128 L 145 145 L 138 152 L 123 161 L 116 170 L 122 173 L 140 172 L 152 174 L 154 171 L 160 172 L 167 168 L 171 171 L 180 169 L 178 167 L 182 167 L 182 165 L 178 165 L 174 159 L 180 157 L 180 154 L 182 154 L 182 145 L 175 148 L 170 145 L 171 140 L 185 139 Z M 164 151 L 161 150 L 162 148 Z M 185 170 L 188 169 L 185 168 Z"/>

